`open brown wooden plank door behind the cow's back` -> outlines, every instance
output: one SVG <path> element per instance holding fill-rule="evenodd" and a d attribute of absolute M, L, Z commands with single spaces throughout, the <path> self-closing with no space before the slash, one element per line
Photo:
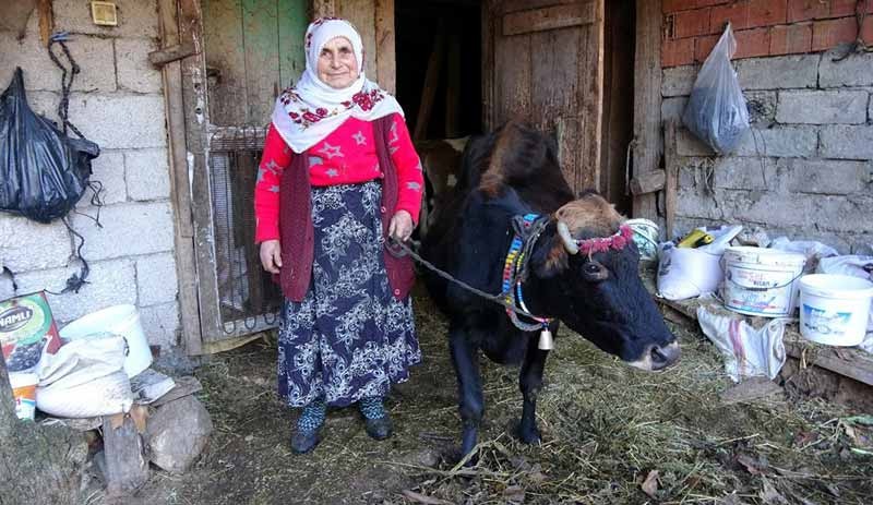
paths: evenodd
<path fill-rule="evenodd" d="M 485 123 L 551 133 L 571 188 L 601 188 L 603 0 L 482 3 Z"/>

